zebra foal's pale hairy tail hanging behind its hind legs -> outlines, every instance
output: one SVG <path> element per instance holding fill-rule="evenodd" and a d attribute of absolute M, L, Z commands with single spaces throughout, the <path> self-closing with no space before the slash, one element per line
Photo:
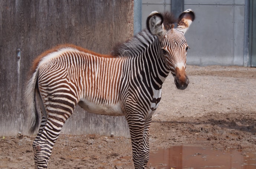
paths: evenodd
<path fill-rule="evenodd" d="M 29 118 L 29 132 L 33 134 L 39 126 L 39 113 L 36 108 L 38 69 L 29 77 L 27 82 L 25 97 L 27 102 L 27 115 Z"/>

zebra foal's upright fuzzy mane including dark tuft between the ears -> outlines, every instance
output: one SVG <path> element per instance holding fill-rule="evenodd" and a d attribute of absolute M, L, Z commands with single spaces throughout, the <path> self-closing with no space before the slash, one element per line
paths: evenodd
<path fill-rule="evenodd" d="M 177 23 L 177 18 L 172 13 L 165 12 L 162 15 L 164 19 L 163 24 L 167 30 L 171 29 L 171 24 Z M 138 45 L 148 43 L 150 39 L 153 40 L 154 36 L 148 29 L 144 29 L 126 42 L 116 44 L 112 49 L 111 55 L 114 57 L 128 56 L 129 52 L 131 52 L 130 49 L 136 49 Z"/>

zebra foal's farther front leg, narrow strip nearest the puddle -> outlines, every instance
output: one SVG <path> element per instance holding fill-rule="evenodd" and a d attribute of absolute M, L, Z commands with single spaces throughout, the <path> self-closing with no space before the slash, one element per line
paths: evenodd
<path fill-rule="evenodd" d="M 143 133 L 143 150 L 144 150 L 144 169 L 147 169 L 147 163 L 149 160 L 149 142 L 148 142 L 148 135 L 149 135 L 149 129 L 150 124 L 152 121 L 152 117 L 149 117 L 146 119 L 145 125 L 144 125 L 144 133 Z"/>

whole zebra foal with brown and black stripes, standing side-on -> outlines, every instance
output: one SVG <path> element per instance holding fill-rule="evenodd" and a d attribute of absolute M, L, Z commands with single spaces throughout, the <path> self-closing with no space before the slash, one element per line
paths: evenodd
<path fill-rule="evenodd" d="M 45 169 L 62 126 L 76 105 L 88 112 L 124 115 L 127 119 L 135 169 L 146 169 L 151 117 L 161 99 L 161 87 L 171 72 L 178 89 L 186 89 L 188 44 L 184 33 L 194 12 L 180 14 L 177 27 L 171 14 L 152 12 L 147 29 L 116 46 L 109 55 L 62 45 L 37 57 L 26 87 L 36 169 Z"/>

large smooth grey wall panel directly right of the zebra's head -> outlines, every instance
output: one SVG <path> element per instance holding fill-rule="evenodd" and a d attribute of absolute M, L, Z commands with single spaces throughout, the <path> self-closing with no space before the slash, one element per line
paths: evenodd
<path fill-rule="evenodd" d="M 196 20 L 185 35 L 191 47 L 188 51 L 187 63 L 203 66 L 232 65 L 233 7 L 226 5 L 184 6 L 184 9 L 188 8 L 195 11 Z"/>

